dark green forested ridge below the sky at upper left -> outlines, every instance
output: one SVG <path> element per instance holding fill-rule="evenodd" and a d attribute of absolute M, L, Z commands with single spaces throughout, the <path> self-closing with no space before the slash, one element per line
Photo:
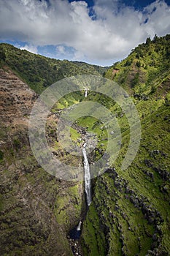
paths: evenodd
<path fill-rule="evenodd" d="M 78 61 L 50 59 L 44 56 L 20 50 L 12 45 L 0 44 L 0 67 L 7 65 L 31 89 L 40 94 L 47 86 L 72 75 L 102 75 L 106 67 L 86 64 Z"/>

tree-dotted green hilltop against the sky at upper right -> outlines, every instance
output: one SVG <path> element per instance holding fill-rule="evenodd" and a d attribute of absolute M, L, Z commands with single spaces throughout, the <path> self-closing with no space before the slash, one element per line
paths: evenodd
<path fill-rule="evenodd" d="M 147 91 L 150 84 L 170 69 L 170 35 L 147 38 L 131 51 L 131 54 L 121 62 L 115 63 L 106 74 L 120 85 L 133 91 Z M 118 72 L 113 72 L 117 69 Z M 135 87 L 135 89 L 134 89 Z"/>

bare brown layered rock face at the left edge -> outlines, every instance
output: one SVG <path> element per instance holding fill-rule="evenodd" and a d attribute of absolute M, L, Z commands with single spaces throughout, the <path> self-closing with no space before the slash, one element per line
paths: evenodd
<path fill-rule="evenodd" d="M 10 69 L 0 69 L 0 118 L 4 124 L 26 122 L 36 93 Z"/>

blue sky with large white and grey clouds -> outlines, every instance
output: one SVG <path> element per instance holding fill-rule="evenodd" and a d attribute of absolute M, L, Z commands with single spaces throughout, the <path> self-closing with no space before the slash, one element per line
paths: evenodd
<path fill-rule="evenodd" d="M 170 0 L 0 0 L 0 42 L 55 59 L 110 66 L 170 34 Z"/>

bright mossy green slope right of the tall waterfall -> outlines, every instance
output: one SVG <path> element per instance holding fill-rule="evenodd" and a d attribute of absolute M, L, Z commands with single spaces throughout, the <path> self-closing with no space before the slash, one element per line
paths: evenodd
<path fill-rule="evenodd" d="M 84 255 L 169 255 L 169 45 L 169 35 L 147 39 L 106 73 L 133 97 L 142 140 L 122 171 L 129 139 L 124 131 L 114 166 L 97 179 L 82 230 Z M 122 131 L 124 118 L 117 118 Z"/>

